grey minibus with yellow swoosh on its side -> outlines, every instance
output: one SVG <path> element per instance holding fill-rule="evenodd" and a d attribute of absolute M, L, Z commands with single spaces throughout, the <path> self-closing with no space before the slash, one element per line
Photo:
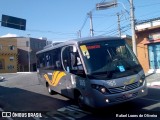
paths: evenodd
<path fill-rule="evenodd" d="M 79 107 L 106 107 L 147 95 L 145 74 L 124 39 L 91 37 L 38 51 L 39 82 Z"/>

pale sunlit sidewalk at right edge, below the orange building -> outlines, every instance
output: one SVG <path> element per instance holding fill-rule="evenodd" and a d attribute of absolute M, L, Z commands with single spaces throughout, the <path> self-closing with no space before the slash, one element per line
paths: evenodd
<path fill-rule="evenodd" d="M 160 87 L 160 73 L 146 73 L 148 87 Z"/>

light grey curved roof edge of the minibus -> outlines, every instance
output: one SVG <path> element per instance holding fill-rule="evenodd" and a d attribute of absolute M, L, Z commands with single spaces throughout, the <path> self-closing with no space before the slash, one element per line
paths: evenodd
<path fill-rule="evenodd" d="M 54 48 L 58 48 L 58 47 L 70 45 L 70 44 L 79 44 L 79 43 L 82 44 L 82 43 L 88 43 L 88 42 L 96 42 L 100 40 L 117 40 L 117 39 L 121 39 L 121 38 L 120 37 L 106 37 L 106 36 L 78 38 L 78 39 L 68 40 L 65 42 L 53 43 L 52 45 L 50 45 L 50 47 L 44 47 L 43 50 L 38 51 L 36 54 L 43 53 L 45 51 L 49 51 Z"/>

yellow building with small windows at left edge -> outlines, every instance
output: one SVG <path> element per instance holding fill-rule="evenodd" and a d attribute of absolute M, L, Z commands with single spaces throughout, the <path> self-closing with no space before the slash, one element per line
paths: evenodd
<path fill-rule="evenodd" d="M 0 38 L 0 73 L 17 72 L 17 39 Z"/>

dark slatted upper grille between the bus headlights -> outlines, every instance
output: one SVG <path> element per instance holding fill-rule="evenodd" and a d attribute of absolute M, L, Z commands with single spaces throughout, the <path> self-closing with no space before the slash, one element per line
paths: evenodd
<path fill-rule="evenodd" d="M 120 87 L 116 87 L 116 88 L 108 88 L 108 90 L 110 91 L 111 94 L 115 94 L 115 93 L 129 91 L 129 90 L 135 89 L 137 87 L 139 87 L 139 83 L 135 82 L 133 84 L 129 84 L 126 86 L 120 86 Z"/>

